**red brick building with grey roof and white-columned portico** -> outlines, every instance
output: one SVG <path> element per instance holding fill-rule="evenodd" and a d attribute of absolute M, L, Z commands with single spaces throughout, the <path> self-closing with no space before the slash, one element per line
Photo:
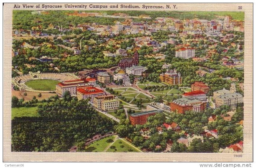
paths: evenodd
<path fill-rule="evenodd" d="M 206 108 L 206 102 L 201 101 L 196 98 L 186 97 L 176 99 L 170 104 L 171 111 L 176 111 L 177 113 L 185 113 L 185 111 L 195 111 L 201 112 Z"/>

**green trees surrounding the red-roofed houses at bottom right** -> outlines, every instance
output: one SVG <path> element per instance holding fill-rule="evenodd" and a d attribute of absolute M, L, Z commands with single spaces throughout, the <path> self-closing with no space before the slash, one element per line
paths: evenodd
<path fill-rule="evenodd" d="M 243 104 L 239 104 L 231 121 L 223 120 L 223 116 L 230 111 L 230 107 L 221 106 L 215 110 L 209 108 L 203 113 L 195 113 L 187 111 L 185 114 L 171 114 L 165 118 L 165 114 L 159 113 L 148 117 L 147 123 L 144 125 L 132 126 L 129 120 L 122 120 L 115 131 L 121 137 L 130 138 L 135 146 L 144 148 L 148 151 L 161 152 L 165 150 L 167 141 L 172 141 L 170 152 L 218 152 L 220 148 L 243 141 L 243 127 L 237 124 L 243 119 Z M 216 120 L 208 122 L 210 116 L 216 116 Z M 175 122 L 180 126 L 180 132 L 172 129 L 166 129 L 163 123 Z M 161 127 L 161 132 L 159 129 Z M 141 130 L 147 129 L 148 138 L 141 135 Z M 204 129 L 217 129 L 218 138 L 210 138 L 204 135 Z M 186 138 L 187 134 L 202 135 L 203 139 L 195 138 L 190 142 L 189 146 L 177 142 L 179 138 Z"/>

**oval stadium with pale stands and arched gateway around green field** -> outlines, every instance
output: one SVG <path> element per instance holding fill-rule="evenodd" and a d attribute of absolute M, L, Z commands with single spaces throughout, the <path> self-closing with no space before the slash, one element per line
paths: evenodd
<path fill-rule="evenodd" d="M 80 79 L 70 73 L 35 73 L 29 72 L 27 75 L 20 75 L 12 78 L 13 86 L 17 86 L 20 91 L 31 92 L 52 92 L 59 82 Z"/>

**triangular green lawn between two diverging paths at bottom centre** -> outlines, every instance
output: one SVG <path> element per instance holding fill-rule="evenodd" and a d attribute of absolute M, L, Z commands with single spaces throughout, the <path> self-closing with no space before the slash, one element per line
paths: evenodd
<path fill-rule="evenodd" d="M 140 152 L 132 144 L 124 139 L 117 139 L 116 142 L 114 142 L 114 144 L 111 146 L 114 148 L 108 148 L 107 152 Z"/>

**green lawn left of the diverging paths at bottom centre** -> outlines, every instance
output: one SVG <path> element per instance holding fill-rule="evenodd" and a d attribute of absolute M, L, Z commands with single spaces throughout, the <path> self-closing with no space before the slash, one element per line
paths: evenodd
<path fill-rule="evenodd" d="M 95 141 L 91 145 L 85 148 L 84 152 L 104 152 L 105 149 L 111 144 L 111 142 L 107 142 L 108 139 L 114 139 L 117 137 L 117 135 L 112 135 L 103 139 L 100 139 L 98 141 Z"/>

